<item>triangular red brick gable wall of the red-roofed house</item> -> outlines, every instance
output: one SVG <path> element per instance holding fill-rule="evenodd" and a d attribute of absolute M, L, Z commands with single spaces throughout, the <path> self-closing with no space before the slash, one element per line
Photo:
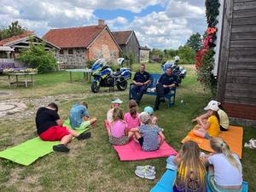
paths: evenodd
<path fill-rule="evenodd" d="M 107 29 L 105 29 L 100 37 L 90 46 L 86 54 L 88 60 L 97 60 L 105 58 L 107 61 L 116 62 L 119 58 L 119 48 L 111 38 Z"/>

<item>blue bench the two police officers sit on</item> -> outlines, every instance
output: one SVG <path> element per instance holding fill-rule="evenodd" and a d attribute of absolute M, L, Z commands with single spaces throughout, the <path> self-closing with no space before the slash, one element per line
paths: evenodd
<path fill-rule="evenodd" d="M 149 96 L 156 96 L 156 92 L 152 91 L 153 89 L 155 90 L 155 86 L 158 83 L 158 80 L 160 79 L 162 74 L 159 73 L 150 73 L 150 84 L 148 86 L 148 89 L 146 90 L 146 95 Z M 130 90 L 129 90 L 129 100 L 131 99 L 131 88 L 133 84 L 130 85 Z M 175 94 L 176 94 L 176 88 L 171 88 L 170 92 L 165 95 L 165 98 L 168 100 L 167 105 L 168 108 L 174 105 L 175 102 Z"/>

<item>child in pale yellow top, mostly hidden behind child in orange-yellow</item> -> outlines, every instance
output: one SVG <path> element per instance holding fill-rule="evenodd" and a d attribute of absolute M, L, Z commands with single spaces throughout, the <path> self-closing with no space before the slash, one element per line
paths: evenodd
<path fill-rule="evenodd" d="M 210 101 L 207 105 L 207 107 L 205 108 L 205 110 L 207 110 L 207 108 L 210 108 L 210 106 L 212 105 L 218 105 L 218 116 L 219 116 L 219 127 L 220 127 L 220 131 L 228 131 L 229 126 L 230 126 L 230 119 L 227 113 L 225 113 L 223 106 L 221 105 L 220 102 L 217 101 Z M 211 115 L 209 115 L 208 113 L 204 113 L 199 117 L 196 117 L 195 119 L 192 119 L 192 122 L 194 121 L 202 121 L 204 119 L 208 119 Z"/>

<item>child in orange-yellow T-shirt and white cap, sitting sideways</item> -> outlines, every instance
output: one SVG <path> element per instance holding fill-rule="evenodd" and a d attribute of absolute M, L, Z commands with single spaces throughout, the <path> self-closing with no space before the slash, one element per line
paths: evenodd
<path fill-rule="evenodd" d="M 211 137 L 218 137 L 219 133 L 219 117 L 218 117 L 218 105 L 211 105 L 207 108 L 209 115 L 208 119 L 202 119 L 198 121 L 194 129 L 195 136 L 210 139 Z"/>

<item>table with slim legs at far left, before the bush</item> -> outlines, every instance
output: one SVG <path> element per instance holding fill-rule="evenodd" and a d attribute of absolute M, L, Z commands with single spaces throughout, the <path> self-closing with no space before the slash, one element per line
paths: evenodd
<path fill-rule="evenodd" d="M 33 81 L 33 75 L 38 73 L 8 73 L 8 79 L 9 79 L 9 88 L 11 84 L 16 84 L 18 86 L 19 84 L 24 84 L 26 87 L 28 84 L 34 85 Z M 28 77 L 31 76 L 31 80 L 28 79 Z M 15 81 L 11 81 L 11 77 L 15 77 Z M 23 80 L 20 80 L 19 77 L 24 77 Z"/>

